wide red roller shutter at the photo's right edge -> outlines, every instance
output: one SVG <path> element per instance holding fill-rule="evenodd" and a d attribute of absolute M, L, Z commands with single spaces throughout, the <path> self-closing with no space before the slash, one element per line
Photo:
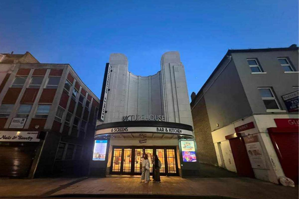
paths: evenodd
<path fill-rule="evenodd" d="M 298 184 L 299 133 L 269 132 L 269 135 L 284 174 Z"/>

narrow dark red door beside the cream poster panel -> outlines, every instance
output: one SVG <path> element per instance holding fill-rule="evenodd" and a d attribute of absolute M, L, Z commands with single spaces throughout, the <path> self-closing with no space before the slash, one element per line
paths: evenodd
<path fill-rule="evenodd" d="M 229 144 L 231 145 L 231 152 L 233 153 L 238 175 L 255 178 L 243 138 L 230 139 Z"/>

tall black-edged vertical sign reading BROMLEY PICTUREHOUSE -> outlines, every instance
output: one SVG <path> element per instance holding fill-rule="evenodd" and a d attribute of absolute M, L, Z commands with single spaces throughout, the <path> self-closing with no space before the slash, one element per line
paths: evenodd
<path fill-rule="evenodd" d="M 101 93 L 101 99 L 100 99 L 100 118 L 99 119 L 102 122 L 104 121 L 104 117 L 105 117 L 110 73 L 111 73 L 111 66 L 109 63 L 106 63 L 105 74 L 104 74 L 104 79 L 103 79 L 103 86 L 102 86 L 102 93 Z"/>

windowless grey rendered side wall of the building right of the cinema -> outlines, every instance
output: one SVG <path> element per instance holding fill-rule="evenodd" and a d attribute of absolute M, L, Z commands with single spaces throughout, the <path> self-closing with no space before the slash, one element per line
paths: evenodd
<path fill-rule="evenodd" d="M 252 114 L 234 62 L 229 61 L 226 58 L 203 88 L 212 131 Z"/>

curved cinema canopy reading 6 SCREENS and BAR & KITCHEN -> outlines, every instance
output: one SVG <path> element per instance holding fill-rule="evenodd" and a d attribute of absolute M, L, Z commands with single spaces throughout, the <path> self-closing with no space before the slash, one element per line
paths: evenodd
<path fill-rule="evenodd" d="M 125 121 L 98 125 L 95 138 L 193 138 L 187 124 L 165 121 Z"/>

